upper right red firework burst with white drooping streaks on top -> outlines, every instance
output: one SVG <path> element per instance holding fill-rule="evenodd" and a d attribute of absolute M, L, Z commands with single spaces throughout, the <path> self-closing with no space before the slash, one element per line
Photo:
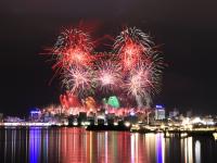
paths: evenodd
<path fill-rule="evenodd" d="M 123 66 L 129 71 L 149 55 L 152 41 L 149 36 L 137 28 L 127 28 L 116 38 L 114 50 Z"/>

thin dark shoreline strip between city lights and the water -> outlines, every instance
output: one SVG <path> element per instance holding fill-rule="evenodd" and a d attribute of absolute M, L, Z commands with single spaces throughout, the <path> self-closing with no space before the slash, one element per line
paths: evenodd
<path fill-rule="evenodd" d="M 37 124 L 37 123 L 35 123 Z M 179 129 L 174 129 L 169 130 L 167 129 L 162 129 L 162 128 L 156 128 L 156 129 L 148 129 L 148 128 L 135 128 L 133 126 L 125 126 L 124 124 L 119 125 L 89 125 L 89 126 L 82 126 L 82 125 L 35 125 L 35 126 L 29 126 L 29 125 L 16 125 L 16 126 L 4 126 L 0 125 L 0 129 L 10 129 L 10 128 L 84 128 L 86 130 L 92 130 L 92 131 L 129 131 L 129 133 L 138 133 L 138 134 L 164 134 L 165 138 L 171 138 L 171 137 L 179 137 L 179 138 L 187 138 L 187 137 L 214 137 L 215 140 L 217 140 L 217 128 L 194 128 L 194 129 L 188 129 L 188 130 L 181 130 Z"/>

